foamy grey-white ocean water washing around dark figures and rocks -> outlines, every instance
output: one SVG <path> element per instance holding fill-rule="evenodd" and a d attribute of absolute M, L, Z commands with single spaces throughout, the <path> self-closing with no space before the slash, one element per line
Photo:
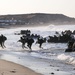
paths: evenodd
<path fill-rule="evenodd" d="M 75 52 L 65 53 L 67 43 L 44 43 L 43 49 L 35 43 L 32 45 L 32 52 L 29 49 L 22 49 L 21 43 L 17 42 L 21 35 L 14 35 L 20 30 L 31 30 L 31 33 L 39 34 L 43 37 L 54 35 L 56 31 L 61 33 L 65 30 L 75 30 L 75 25 L 49 25 L 42 27 L 20 27 L 14 29 L 2 29 L 0 34 L 7 37 L 6 48 L 0 47 L 0 58 L 12 61 L 29 67 L 43 75 L 75 75 Z M 60 71 L 57 71 L 60 69 Z"/>

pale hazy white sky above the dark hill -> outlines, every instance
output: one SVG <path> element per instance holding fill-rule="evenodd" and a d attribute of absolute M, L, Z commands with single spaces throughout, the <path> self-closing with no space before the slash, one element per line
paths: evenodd
<path fill-rule="evenodd" d="M 0 15 L 58 13 L 75 17 L 75 0 L 0 0 Z"/>

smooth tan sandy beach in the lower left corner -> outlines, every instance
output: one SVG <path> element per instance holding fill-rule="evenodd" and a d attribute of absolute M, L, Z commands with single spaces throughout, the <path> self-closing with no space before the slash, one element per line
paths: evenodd
<path fill-rule="evenodd" d="M 1 60 L 0 59 L 0 75 L 41 75 L 28 69 L 27 67 Z"/>

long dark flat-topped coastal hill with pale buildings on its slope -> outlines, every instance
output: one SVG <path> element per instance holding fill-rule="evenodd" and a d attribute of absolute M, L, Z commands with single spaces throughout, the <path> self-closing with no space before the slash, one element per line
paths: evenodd
<path fill-rule="evenodd" d="M 18 15 L 0 15 L 0 26 L 10 25 L 73 25 L 75 18 L 63 14 L 18 14 Z"/>

